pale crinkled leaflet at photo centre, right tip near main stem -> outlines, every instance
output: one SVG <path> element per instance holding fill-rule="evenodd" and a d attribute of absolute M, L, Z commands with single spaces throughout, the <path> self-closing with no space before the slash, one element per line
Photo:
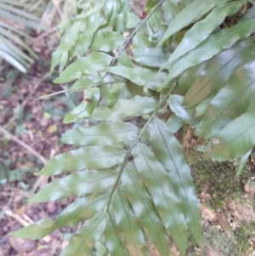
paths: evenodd
<path fill-rule="evenodd" d="M 117 100 L 112 107 L 95 108 L 90 119 L 98 121 L 122 121 L 127 117 L 141 117 L 154 111 L 157 101 L 147 97 L 135 96 L 131 100 Z"/>

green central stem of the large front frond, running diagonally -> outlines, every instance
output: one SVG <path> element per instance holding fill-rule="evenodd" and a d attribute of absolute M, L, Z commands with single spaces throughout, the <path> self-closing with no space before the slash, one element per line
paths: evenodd
<path fill-rule="evenodd" d="M 124 171 L 124 168 L 125 168 L 125 165 L 128 161 L 128 157 L 130 156 L 131 154 L 131 151 L 133 150 L 133 147 L 139 142 L 139 139 L 141 138 L 142 134 L 144 133 L 144 130 L 145 128 L 148 127 L 149 123 L 152 121 L 152 119 L 155 117 L 156 115 L 156 112 L 161 108 L 161 105 L 163 105 L 163 103 L 165 102 L 165 100 L 167 100 L 167 98 L 169 97 L 169 95 L 172 93 L 173 89 L 176 87 L 178 82 L 174 82 L 173 83 L 173 87 L 169 90 L 169 92 L 165 95 L 165 97 L 158 103 L 158 105 L 156 105 L 156 108 L 155 108 L 155 111 L 152 113 L 150 119 L 145 123 L 144 127 L 141 129 L 141 131 L 139 132 L 139 135 L 137 137 L 137 139 L 135 139 L 135 141 L 133 142 L 133 145 L 131 146 L 131 148 L 127 151 L 126 153 L 126 156 L 124 157 L 124 160 L 122 162 L 122 165 L 121 165 L 121 169 L 120 169 L 120 172 L 118 174 L 118 176 L 116 177 L 116 181 L 113 185 L 113 188 L 111 190 L 111 194 L 110 194 L 110 197 L 109 197 L 109 200 L 108 200 L 108 203 L 107 203 L 107 208 L 106 208 L 106 211 L 108 211 L 109 207 L 110 207 L 110 203 L 111 203 L 111 197 L 113 196 L 113 193 L 116 189 L 116 186 L 119 184 L 119 181 L 122 177 L 122 173 Z"/>

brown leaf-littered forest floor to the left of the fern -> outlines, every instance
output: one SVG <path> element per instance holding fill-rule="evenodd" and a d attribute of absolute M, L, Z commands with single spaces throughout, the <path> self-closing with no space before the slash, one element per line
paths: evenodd
<path fill-rule="evenodd" d="M 33 174 L 52 156 L 69 150 L 59 141 L 60 134 L 71 128 L 62 120 L 82 97 L 59 94 L 35 101 L 65 89 L 65 85 L 50 82 L 54 77 L 48 77 L 54 43 L 56 38 L 44 37 L 39 45 L 32 45 L 39 57 L 27 74 L 0 63 L 0 256 L 59 255 L 73 231 L 58 230 L 37 242 L 8 236 L 10 231 L 38 219 L 54 219 L 70 203 L 26 203 L 28 197 L 48 183 L 48 179 L 36 178 Z"/>

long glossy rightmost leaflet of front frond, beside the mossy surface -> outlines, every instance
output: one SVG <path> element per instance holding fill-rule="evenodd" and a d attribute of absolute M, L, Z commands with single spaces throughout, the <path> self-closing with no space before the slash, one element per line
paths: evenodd
<path fill-rule="evenodd" d="M 196 196 L 190 167 L 184 159 L 184 151 L 166 124 L 161 120 L 150 122 L 151 147 L 173 181 L 181 201 L 186 222 L 195 242 L 201 246 L 201 209 Z"/>

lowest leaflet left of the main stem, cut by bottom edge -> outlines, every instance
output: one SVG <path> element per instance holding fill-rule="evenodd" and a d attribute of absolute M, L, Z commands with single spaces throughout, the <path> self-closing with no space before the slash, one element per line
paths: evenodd
<path fill-rule="evenodd" d="M 94 218 L 85 222 L 77 232 L 71 236 L 71 241 L 60 253 L 60 256 L 92 255 L 95 243 L 105 231 L 105 214 L 96 213 Z"/>

